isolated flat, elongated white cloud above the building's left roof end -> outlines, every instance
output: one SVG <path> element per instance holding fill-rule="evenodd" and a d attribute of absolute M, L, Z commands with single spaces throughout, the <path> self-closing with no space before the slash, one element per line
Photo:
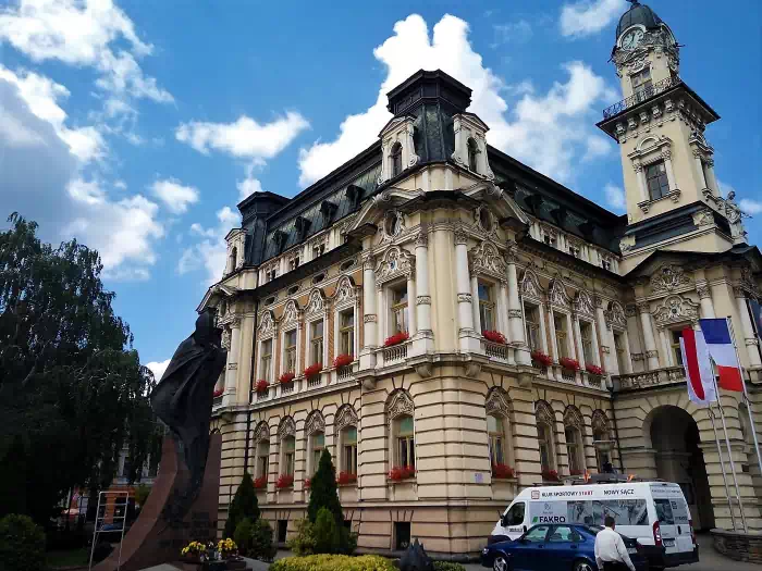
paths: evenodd
<path fill-rule="evenodd" d="M 259 124 L 242 115 L 233 123 L 192 121 L 177 127 L 177 140 L 204 154 L 211 150 L 225 152 L 237 159 L 263 161 L 272 159 L 309 123 L 299 113 L 290 111 L 270 123 Z"/>

